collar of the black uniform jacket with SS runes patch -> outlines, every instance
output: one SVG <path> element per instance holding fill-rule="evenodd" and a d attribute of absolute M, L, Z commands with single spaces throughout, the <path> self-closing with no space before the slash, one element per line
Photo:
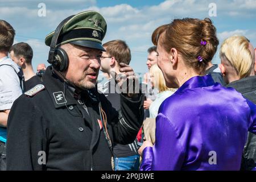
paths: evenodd
<path fill-rule="evenodd" d="M 60 107 L 67 107 L 69 105 L 79 104 L 73 97 L 76 89 L 61 79 L 59 76 L 57 76 L 53 72 L 51 66 L 48 67 L 44 73 L 43 84 L 51 96 L 51 100 L 56 109 Z M 84 102 L 90 100 L 90 102 L 88 102 L 86 105 L 90 115 L 87 114 L 86 111 L 82 112 L 81 114 L 85 121 L 92 123 L 92 129 L 94 132 L 90 143 L 90 149 L 93 150 L 94 146 L 96 146 L 98 142 L 101 130 L 98 124 L 98 119 L 101 119 L 100 113 L 98 111 L 98 102 L 100 102 L 100 99 L 96 89 L 83 90 L 81 92 L 81 98 Z M 84 110 L 80 104 L 78 107 Z M 76 116 L 79 116 L 79 114 Z"/>

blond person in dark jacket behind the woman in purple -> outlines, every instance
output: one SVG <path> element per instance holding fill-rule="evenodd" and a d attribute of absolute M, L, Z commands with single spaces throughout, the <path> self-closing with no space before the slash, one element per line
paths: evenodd
<path fill-rule="evenodd" d="M 256 104 L 255 53 L 253 45 L 244 36 L 231 36 L 220 49 L 220 69 L 228 85 Z M 234 103 L 235 104 L 235 103 Z M 248 133 L 242 156 L 241 170 L 256 165 L 256 135 Z"/>

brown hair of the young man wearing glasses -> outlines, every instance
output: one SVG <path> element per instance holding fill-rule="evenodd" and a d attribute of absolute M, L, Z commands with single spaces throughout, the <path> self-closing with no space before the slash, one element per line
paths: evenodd
<path fill-rule="evenodd" d="M 118 63 L 129 64 L 131 61 L 131 51 L 123 40 L 112 40 L 102 45 L 109 56 L 113 56 Z"/>

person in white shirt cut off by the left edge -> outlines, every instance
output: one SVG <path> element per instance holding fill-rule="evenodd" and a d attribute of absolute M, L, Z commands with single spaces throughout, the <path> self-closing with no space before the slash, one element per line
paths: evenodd
<path fill-rule="evenodd" d="M 20 69 L 8 57 L 14 41 L 15 30 L 5 20 L 0 20 L 0 170 L 6 168 L 6 127 L 13 102 L 22 94 Z"/>

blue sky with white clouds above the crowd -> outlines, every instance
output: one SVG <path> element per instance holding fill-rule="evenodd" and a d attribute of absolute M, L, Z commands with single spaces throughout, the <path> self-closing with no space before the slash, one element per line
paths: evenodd
<path fill-rule="evenodd" d="M 46 16 L 38 16 L 39 3 L 46 5 Z M 215 3 L 217 16 L 209 16 L 209 4 Z M 15 43 L 27 42 L 34 50 L 32 65 L 47 64 L 49 48 L 45 36 L 69 15 L 85 10 L 100 12 L 108 23 L 103 40 L 122 39 L 131 48 L 131 66 L 135 72 L 147 72 L 147 48 L 158 26 L 174 18 L 209 17 L 217 28 L 220 44 L 234 34 L 245 35 L 256 47 L 256 0 L 0 0 L 0 19 L 16 30 Z M 218 55 L 213 63 L 219 63 Z"/>

